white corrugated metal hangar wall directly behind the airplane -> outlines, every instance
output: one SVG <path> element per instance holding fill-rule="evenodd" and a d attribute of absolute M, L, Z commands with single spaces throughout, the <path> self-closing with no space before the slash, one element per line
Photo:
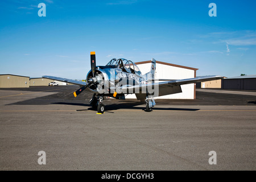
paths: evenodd
<path fill-rule="evenodd" d="M 151 69 L 151 63 L 138 64 L 142 74 L 148 73 Z M 185 69 L 174 67 L 171 65 L 164 65 L 156 63 L 155 78 L 180 80 L 185 78 L 195 77 L 195 71 L 192 69 Z M 164 99 L 194 99 L 194 84 L 181 85 L 182 93 L 171 94 L 167 96 L 155 97 Z M 129 94 L 126 98 L 136 98 L 135 94 Z"/>

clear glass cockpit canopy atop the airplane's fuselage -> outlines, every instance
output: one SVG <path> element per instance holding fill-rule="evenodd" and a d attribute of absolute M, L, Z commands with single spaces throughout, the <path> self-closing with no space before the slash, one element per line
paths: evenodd
<path fill-rule="evenodd" d="M 119 67 L 120 69 L 122 69 L 123 72 L 127 72 L 127 73 L 137 73 L 138 75 L 141 75 L 141 71 L 139 70 L 139 68 L 137 67 L 137 65 L 135 63 L 133 63 L 133 61 L 128 61 L 126 59 L 112 59 L 111 61 L 109 61 L 108 64 L 106 64 L 106 66 L 112 66 L 112 67 Z"/>

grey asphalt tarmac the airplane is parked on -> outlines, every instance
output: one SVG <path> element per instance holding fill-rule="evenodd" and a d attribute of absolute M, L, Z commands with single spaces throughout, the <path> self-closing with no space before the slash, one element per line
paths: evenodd
<path fill-rule="evenodd" d="M 96 114 L 92 94 L 73 98 L 76 89 L 0 89 L 0 170 L 256 169 L 254 95 L 199 90 L 196 100 L 156 100 L 150 113 L 108 99 Z"/>

